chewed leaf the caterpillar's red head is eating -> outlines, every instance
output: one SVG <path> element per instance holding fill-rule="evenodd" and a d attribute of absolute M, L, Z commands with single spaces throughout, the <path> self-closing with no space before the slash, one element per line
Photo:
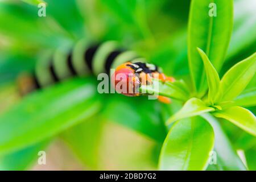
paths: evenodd
<path fill-rule="evenodd" d="M 152 79 L 151 85 L 141 85 L 139 89 L 144 94 L 156 94 L 181 101 L 186 101 L 189 97 L 187 86 L 182 80 L 174 82 L 166 81 L 163 83 L 160 80 Z"/>

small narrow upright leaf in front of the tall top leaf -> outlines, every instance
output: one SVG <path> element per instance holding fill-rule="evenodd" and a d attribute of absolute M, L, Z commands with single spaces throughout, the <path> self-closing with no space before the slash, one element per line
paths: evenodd
<path fill-rule="evenodd" d="M 202 60 L 204 62 L 204 69 L 207 75 L 207 82 L 209 87 L 208 100 L 211 104 L 214 104 L 220 86 L 220 77 L 218 76 L 218 72 L 213 67 L 212 63 L 210 63 L 210 60 L 204 53 L 204 51 L 200 48 L 197 48 L 197 51 L 202 57 Z"/>

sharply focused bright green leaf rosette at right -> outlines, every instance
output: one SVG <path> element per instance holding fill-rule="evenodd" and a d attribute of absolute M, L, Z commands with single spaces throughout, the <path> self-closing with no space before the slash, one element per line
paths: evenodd
<path fill-rule="evenodd" d="M 191 4 L 188 58 L 194 88 L 191 96 L 196 97 L 186 101 L 184 106 L 168 119 L 167 125 L 174 121 L 178 122 L 171 127 L 163 144 L 160 169 L 198 170 L 207 167 L 209 152 L 214 146 L 214 132 L 207 123 L 208 119 L 213 118 L 209 118 L 209 115 L 204 113 L 210 113 L 217 118 L 224 118 L 247 133 L 256 136 L 255 115 L 250 110 L 237 106 L 234 101 L 254 77 L 256 53 L 234 65 L 220 80 L 217 70 L 221 69 L 228 49 L 232 32 L 233 2 L 215 1 L 219 8 L 219 14 L 217 17 L 205 18 L 208 3 L 208 1 L 192 1 Z M 203 23 L 204 26 L 201 25 Z M 225 31 L 222 31 L 224 24 Z M 204 47 L 207 53 L 198 47 Z M 196 53 L 196 49 L 198 53 Z M 204 69 L 201 69 L 202 64 L 199 63 L 201 61 L 199 55 L 203 60 Z M 208 88 L 206 88 L 205 80 L 207 80 Z M 162 88 L 160 87 L 158 93 L 167 96 L 167 94 L 162 94 Z M 170 97 L 175 96 L 173 92 L 168 93 L 170 93 Z M 254 97 L 253 93 L 251 96 Z M 200 115 L 201 118 L 195 117 L 197 115 Z M 184 118 L 187 120 L 183 121 Z M 197 144 L 203 143 L 206 143 L 201 146 L 205 147 L 204 149 L 197 146 Z M 199 159 L 201 160 L 200 163 L 198 163 Z M 193 163 L 195 160 L 197 161 L 196 164 Z"/>

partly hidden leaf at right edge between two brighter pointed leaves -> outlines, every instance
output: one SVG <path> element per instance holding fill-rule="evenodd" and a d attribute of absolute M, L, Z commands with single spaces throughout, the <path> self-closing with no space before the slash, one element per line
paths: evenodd
<path fill-rule="evenodd" d="M 234 101 L 243 107 L 256 106 L 256 87 L 244 90 Z"/>

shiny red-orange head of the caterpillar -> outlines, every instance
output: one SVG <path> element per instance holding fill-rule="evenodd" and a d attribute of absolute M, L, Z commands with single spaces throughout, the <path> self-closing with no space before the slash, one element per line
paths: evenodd
<path fill-rule="evenodd" d="M 127 66 L 130 62 L 119 65 L 112 75 L 111 81 L 115 90 L 125 96 L 139 96 L 138 88 L 141 85 L 138 74 Z"/>

